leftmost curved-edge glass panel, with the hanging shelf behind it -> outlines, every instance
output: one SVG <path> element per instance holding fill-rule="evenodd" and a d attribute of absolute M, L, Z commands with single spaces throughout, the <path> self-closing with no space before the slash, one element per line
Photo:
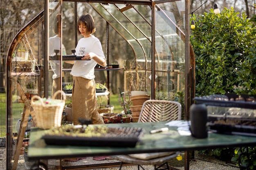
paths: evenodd
<path fill-rule="evenodd" d="M 25 106 L 24 99 L 21 99 L 22 93 L 25 93 L 28 99 L 33 95 L 43 95 L 43 15 L 38 15 L 38 20 L 29 23 L 23 27 L 22 32 L 18 33 L 9 48 L 12 54 L 11 58 L 11 90 L 12 98 L 8 98 L 8 104 L 11 101 L 12 112 L 12 130 L 18 133 L 18 126 L 21 119 L 21 113 Z M 12 48 L 12 46 L 14 48 Z M 20 91 L 18 91 L 20 89 Z M 31 120 L 31 117 L 29 118 Z"/>

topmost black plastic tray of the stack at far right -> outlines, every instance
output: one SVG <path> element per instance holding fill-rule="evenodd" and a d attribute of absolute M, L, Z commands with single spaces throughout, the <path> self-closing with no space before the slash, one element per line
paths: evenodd
<path fill-rule="evenodd" d="M 195 97 L 193 100 L 196 101 L 197 104 L 205 104 L 211 106 L 220 106 L 220 107 L 240 107 L 247 109 L 255 109 L 256 102 L 250 101 L 232 101 L 229 100 L 226 95 L 210 95 L 210 96 L 200 96 Z"/>

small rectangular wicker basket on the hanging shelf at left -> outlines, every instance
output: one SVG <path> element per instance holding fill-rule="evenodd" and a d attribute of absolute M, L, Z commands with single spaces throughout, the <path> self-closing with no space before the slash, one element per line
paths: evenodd
<path fill-rule="evenodd" d="M 32 72 L 35 61 L 11 61 L 11 68 L 14 72 Z"/>

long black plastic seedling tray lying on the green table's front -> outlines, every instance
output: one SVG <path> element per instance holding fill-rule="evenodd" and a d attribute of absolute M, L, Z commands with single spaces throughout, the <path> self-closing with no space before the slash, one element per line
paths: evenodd
<path fill-rule="evenodd" d="M 141 128 L 108 128 L 108 133 L 102 137 L 77 137 L 44 135 L 48 145 L 79 145 L 79 146 L 110 146 L 110 147 L 135 147 L 143 129 Z"/>

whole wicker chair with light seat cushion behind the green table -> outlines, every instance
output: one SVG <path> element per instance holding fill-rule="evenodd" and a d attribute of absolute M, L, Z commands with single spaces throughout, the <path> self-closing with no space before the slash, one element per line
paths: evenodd
<path fill-rule="evenodd" d="M 181 120 L 181 104 L 179 102 L 167 100 L 146 100 L 143 103 L 138 122 L 160 122 Z M 129 155 L 113 155 L 116 160 L 121 161 L 119 170 L 123 163 L 137 164 L 138 170 L 141 165 L 154 165 L 155 170 L 163 168 L 169 170 L 168 161 L 178 156 L 180 152 L 160 152 L 160 153 L 139 153 Z M 161 164 L 158 166 L 158 164 Z M 163 169 L 161 169 L 163 170 Z"/>

